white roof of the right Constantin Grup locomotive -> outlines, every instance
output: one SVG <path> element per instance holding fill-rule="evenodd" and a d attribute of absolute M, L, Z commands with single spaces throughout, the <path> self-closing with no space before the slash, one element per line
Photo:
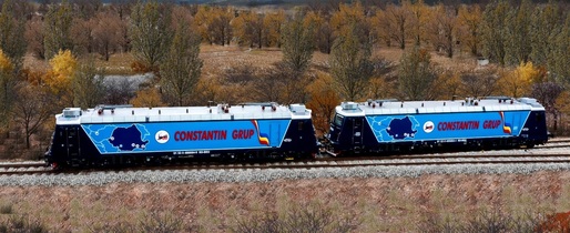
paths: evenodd
<path fill-rule="evenodd" d="M 519 100 L 492 98 L 455 101 L 368 100 L 362 103 L 343 102 L 342 105 L 336 107 L 336 112 L 353 116 L 519 110 L 544 110 L 544 108 L 537 100 L 530 98 L 521 98 Z"/>

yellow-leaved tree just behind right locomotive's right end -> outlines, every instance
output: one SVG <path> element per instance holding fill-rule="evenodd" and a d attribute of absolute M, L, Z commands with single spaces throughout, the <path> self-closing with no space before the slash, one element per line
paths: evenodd
<path fill-rule="evenodd" d="M 530 93 L 532 83 L 541 81 L 542 72 L 532 62 L 521 63 L 513 71 L 503 72 L 499 80 L 502 93 L 513 98 L 520 98 Z"/>

